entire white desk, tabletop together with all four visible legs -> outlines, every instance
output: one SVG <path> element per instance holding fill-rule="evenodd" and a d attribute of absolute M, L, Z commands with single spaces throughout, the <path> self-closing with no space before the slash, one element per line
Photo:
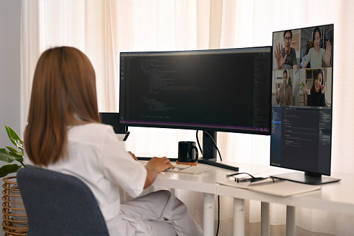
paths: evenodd
<path fill-rule="evenodd" d="M 259 176 L 268 176 L 275 173 L 284 173 L 287 170 L 271 166 L 235 164 L 240 172 Z M 214 196 L 230 196 L 234 198 L 234 235 L 244 235 L 244 199 L 259 200 L 262 202 L 262 235 L 269 235 L 269 203 L 287 205 L 287 235 L 294 235 L 295 207 L 309 207 L 333 212 L 354 214 L 354 189 L 352 180 L 354 174 L 332 173 L 332 177 L 341 178 L 340 182 L 323 184 L 321 190 L 307 194 L 298 194 L 286 198 L 238 189 L 216 184 L 218 180 L 225 180 L 225 176 L 233 171 L 215 166 L 198 175 L 182 173 L 159 174 L 154 182 L 156 187 L 184 189 L 204 193 L 204 235 L 214 235 Z"/>

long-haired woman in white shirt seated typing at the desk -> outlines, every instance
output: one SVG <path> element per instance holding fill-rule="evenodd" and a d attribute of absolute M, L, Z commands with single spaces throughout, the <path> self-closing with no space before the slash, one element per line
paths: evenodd
<path fill-rule="evenodd" d="M 139 196 L 173 166 L 153 157 L 144 168 L 125 151 L 113 129 L 100 123 L 95 83 L 92 64 L 78 49 L 56 47 L 40 56 L 24 135 L 32 164 L 86 182 L 110 235 L 202 235 L 186 205 L 168 191 L 120 203 L 119 187 Z"/>

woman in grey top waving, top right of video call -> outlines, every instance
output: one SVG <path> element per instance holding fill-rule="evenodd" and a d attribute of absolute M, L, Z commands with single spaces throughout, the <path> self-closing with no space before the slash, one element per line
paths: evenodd
<path fill-rule="evenodd" d="M 303 68 L 306 68 L 308 63 L 310 63 L 311 68 L 322 68 L 322 61 L 325 62 L 327 67 L 330 67 L 330 54 L 332 47 L 330 45 L 330 40 L 327 41 L 326 49 L 320 47 L 321 31 L 319 27 L 314 29 L 312 43 L 313 47 L 309 49 Z"/>

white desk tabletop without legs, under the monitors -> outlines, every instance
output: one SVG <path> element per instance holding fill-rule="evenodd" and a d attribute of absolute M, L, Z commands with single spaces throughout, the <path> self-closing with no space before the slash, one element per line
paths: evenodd
<path fill-rule="evenodd" d="M 203 165 L 203 164 L 198 164 Z M 255 176 L 267 177 L 271 174 L 286 173 L 289 170 L 273 166 L 256 164 L 236 164 L 240 172 L 248 172 Z M 172 189 L 184 189 L 198 191 L 206 194 L 230 196 L 232 198 L 260 200 L 266 203 L 280 203 L 294 207 L 309 207 L 354 214 L 354 174 L 332 173 L 332 177 L 340 178 L 340 182 L 323 184 L 321 189 L 306 194 L 298 194 L 289 197 L 279 197 L 262 194 L 248 189 L 239 189 L 216 184 L 218 180 L 225 180 L 226 175 L 234 171 L 225 170 L 215 166 L 209 166 L 207 171 L 198 175 L 184 173 L 161 173 L 154 182 L 154 186 Z"/>

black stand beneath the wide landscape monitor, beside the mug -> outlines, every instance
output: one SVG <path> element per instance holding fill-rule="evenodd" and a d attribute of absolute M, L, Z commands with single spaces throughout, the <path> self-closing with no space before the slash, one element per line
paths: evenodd
<path fill-rule="evenodd" d="M 210 136 L 216 142 L 216 132 L 214 131 L 205 131 L 210 134 Z M 203 157 L 198 159 L 199 163 L 207 164 L 210 166 L 217 166 L 220 168 L 225 168 L 231 171 L 239 171 L 239 167 L 225 164 L 222 161 L 217 161 L 218 154 L 214 142 L 211 140 L 211 137 L 203 132 Z"/>

